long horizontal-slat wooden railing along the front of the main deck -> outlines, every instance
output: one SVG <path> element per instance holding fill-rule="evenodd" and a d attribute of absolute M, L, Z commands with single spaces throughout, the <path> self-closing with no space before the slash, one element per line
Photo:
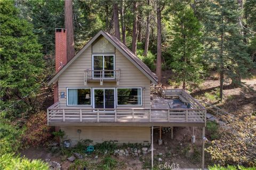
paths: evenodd
<path fill-rule="evenodd" d="M 55 104 L 47 109 L 49 122 L 175 122 L 205 123 L 205 109 L 96 109 L 59 108 Z"/>

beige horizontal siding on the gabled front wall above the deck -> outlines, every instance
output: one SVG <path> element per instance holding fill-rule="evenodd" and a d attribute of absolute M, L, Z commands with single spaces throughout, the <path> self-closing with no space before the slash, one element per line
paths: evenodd
<path fill-rule="evenodd" d="M 92 106 L 67 106 L 67 99 L 60 98 L 60 92 L 67 95 L 68 87 L 145 87 L 142 90 L 142 106 L 117 106 L 117 108 L 150 108 L 150 80 L 135 65 L 133 65 L 121 52 L 116 49 L 115 69 L 121 69 L 120 82 L 89 82 L 84 85 L 84 71 L 92 69 L 91 46 L 88 47 L 59 77 L 59 101 L 61 107 L 91 108 Z"/>

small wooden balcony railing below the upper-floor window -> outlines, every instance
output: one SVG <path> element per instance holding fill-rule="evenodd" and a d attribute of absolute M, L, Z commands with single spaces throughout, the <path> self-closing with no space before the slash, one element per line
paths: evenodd
<path fill-rule="evenodd" d="M 103 85 L 103 81 L 116 81 L 119 85 L 120 69 L 118 70 L 85 70 L 84 71 L 84 85 L 89 81 L 99 81 Z"/>

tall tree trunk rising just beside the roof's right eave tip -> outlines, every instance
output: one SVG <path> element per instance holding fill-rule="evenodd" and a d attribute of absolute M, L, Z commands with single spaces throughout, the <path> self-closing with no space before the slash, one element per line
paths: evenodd
<path fill-rule="evenodd" d="M 162 41 L 161 41 L 161 9 L 160 5 L 157 5 L 157 59 L 156 59 L 156 75 L 158 77 L 158 82 L 162 79 Z"/>

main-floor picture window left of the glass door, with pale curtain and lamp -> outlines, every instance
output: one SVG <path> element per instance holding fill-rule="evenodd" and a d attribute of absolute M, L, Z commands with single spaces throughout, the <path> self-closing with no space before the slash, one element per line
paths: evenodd
<path fill-rule="evenodd" d="M 67 88 L 67 94 L 68 106 L 91 105 L 90 88 Z"/>

